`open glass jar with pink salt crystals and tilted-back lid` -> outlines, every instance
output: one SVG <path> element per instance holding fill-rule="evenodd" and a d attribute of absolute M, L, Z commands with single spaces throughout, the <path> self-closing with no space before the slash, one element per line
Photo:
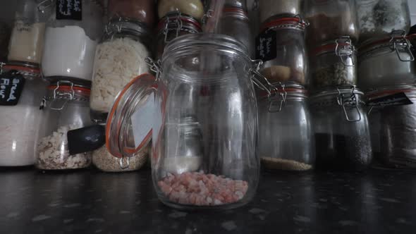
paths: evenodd
<path fill-rule="evenodd" d="M 152 137 L 154 187 L 171 207 L 249 202 L 259 180 L 253 66 L 232 37 L 173 39 L 161 67 L 154 63 L 156 80 L 141 75 L 117 97 L 106 125 L 109 152 L 131 156 Z"/>

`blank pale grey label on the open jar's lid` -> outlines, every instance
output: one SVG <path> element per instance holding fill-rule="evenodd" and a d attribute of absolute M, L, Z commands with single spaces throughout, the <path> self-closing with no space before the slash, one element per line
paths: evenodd
<path fill-rule="evenodd" d="M 154 121 L 154 97 L 149 95 L 146 103 L 131 116 L 135 147 L 139 147 L 152 130 Z"/>

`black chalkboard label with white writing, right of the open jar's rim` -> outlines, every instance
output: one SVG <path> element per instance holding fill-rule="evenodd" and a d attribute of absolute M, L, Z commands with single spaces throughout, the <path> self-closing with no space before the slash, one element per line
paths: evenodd
<path fill-rule="evenodd" d="M 256 59 L 269 61 L 277 57 L 276 32 L 268 30 L 256 38 Z"/>

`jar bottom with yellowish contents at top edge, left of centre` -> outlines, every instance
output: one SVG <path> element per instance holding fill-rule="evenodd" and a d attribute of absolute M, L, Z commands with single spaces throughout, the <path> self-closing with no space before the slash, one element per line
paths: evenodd
<path fill-rule="evenodd" d="M 164 18 L 167 13 L 176 11 L 197 20 L 202 20 L 204 16 L 204 5 L 201 0 L 159 0 L 157 3 L 157 12 L 159 18 Z"/>

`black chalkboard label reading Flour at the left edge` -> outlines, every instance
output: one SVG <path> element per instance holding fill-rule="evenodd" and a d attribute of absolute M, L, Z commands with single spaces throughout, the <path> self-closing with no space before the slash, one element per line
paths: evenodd
<path fill-rule="evenodd" d="M 24 86 L 25 78 L 16 71 L 0 75 L 0 106 L 16 106 Z"/>

